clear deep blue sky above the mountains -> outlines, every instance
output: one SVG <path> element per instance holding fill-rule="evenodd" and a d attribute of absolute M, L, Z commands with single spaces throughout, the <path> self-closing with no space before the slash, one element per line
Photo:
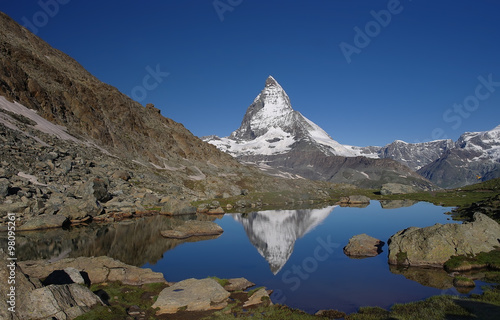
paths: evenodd
<path fill-rule="evenodd" d="M 237 129 L 268 75 L 343 144 L 456 140 L 500 124 L 497 0 L 20 0 L 0 10 L 197 136 Z M 368 38 L 355 39 L 356 27 Z M 148 67 L 161 82 L 148 78 L 146 90 Z M 454 109 L 464 100 L 469 110 Z"/>

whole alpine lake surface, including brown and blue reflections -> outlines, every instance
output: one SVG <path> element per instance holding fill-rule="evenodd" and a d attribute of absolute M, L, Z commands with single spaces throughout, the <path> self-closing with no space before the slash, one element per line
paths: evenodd
<path fill-rule="evenodd" d="M 459 223 L 450 208 L 407 200 L 371 201 L 361 207 L 268 210 L 220 216 L 153 216 L 71 230 L 18 234 L 18 259 L 109 256 L 162 272 L 169 282 L 188 278 L 244 277 L 273 290 L 271 300 L 309 313 L 320 309 L 355 312 L 361 306 L 395 303 L 440 294 L 481 293 L 476 281 L 458 292 L 443 269 L 397 268 L 387 262 L 387 243 L 376 257 L 352 259 L 343 252 L 349 239 L 366 233 L 387 242 L 410 226 Z M 166 239 L 162 230 L 179 219 L 213 220 L 218 237 Z"/>

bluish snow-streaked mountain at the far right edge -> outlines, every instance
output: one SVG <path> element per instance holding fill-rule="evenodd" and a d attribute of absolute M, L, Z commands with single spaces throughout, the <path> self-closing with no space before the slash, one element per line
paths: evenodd
<path fill-rule="evenodd" d="M 444 188 L 457 188 L 500 177 L 500 126 L 466 132 L 454 147 L 418 173 Z"/>

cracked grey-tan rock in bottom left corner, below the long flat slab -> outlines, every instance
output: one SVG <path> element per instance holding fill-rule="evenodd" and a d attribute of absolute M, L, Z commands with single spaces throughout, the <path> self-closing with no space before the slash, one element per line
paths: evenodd
<path fill-rule="evenodd" d="M 96 305 L 104 305 L 88 288 L 76 283 L 33 290 L 25 302 L 29 319 L 74 319 Z"/>

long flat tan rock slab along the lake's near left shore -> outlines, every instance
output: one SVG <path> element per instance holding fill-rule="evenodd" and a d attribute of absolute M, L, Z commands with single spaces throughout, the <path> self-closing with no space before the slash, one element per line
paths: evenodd
<path fill-rule="evenodd" d="M 22 261 L 19 266 L 30 277 L 45 279 L 55 270 L 75 268 L 85 272 L 91 283 L 120 281 L 124 284 L 143 285 L 145 283 L 166 282 L 163 274 L 151 269 L 127 265 L 110 257 L 78 257 L 55 262 Z"/>

